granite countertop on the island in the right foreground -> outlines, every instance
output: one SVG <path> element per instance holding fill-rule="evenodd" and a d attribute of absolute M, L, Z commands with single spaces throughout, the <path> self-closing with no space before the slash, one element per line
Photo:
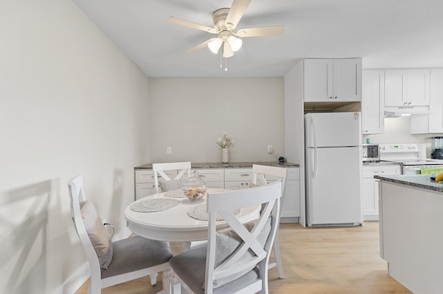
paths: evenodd
<path fill-rule="evenodd" d="M 386 182 L 443 192 L 443 184 L 431 181 L 431 177 L 435 177 L 435 175 L 374 175 L 374 179 Z"/>

